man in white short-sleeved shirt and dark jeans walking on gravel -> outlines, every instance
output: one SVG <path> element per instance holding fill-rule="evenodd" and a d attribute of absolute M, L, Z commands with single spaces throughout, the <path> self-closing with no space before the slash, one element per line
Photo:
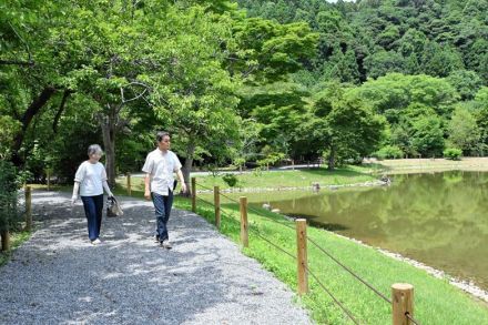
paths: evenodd
<path fill-rule="evenodd" d="M 144 179 L 144 197 L 153 201 L 156 215 L 156 241 L 162 247 L 172 247 L 167 234 L 167 221 L 173 205 L 174 177 L 177 174 L 183 193 L 186 184 L 181 172 L 181 162 L 170 150 L 171 139 L 167 132 L 157 132 L 157 148 L 148 154 L 142 171 Z"/>

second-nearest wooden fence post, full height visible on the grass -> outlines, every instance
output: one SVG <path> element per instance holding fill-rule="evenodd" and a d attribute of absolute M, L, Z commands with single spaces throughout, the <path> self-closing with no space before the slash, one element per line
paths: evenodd
<path fill-rule="evenodd" d="M 308 293 L 307 271 L 307 221 L 297 219 L 296 222 L 296 251 L 297 251 L 297 276 L 298 295 Z"/>

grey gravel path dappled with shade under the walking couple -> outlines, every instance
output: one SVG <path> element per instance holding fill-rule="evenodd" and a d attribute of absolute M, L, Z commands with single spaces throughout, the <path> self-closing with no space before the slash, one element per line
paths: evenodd
<path fill-rule="evenodd" d="M 92 246 L 81 204 L 33 192 L 39 230 L 0 268 L 0 324 L 311 324 L 295 295 L 202 217 L 174 210 L 173 250 L 151 202 L 123 199 Z"/>

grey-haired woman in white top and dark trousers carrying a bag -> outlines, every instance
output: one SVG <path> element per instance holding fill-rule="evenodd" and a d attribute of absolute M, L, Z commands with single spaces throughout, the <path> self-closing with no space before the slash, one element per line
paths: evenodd
<path fill-rule="evenodd" d="M 92 144 L 88 148 L 89 160 L 78 167 L 71 197 L 71 204 L 74 204 L 78 200 L 78 191 L 80 191 L 88 221 L 88 236 L 93 245 L 101 243 L 99 237 L 102 225 L 103 189 L 109 197 L 113 196 L 106 183 L 105 167 L 99 162 L 102 155 L 103 151 L 100 145 Z"/>

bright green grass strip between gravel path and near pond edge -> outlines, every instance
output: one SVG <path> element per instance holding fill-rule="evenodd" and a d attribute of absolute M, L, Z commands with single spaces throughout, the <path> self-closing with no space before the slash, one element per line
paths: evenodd
<path fill-rule="evenodd" d="M 197 213 L 214 223 L 211 205 L 197 202 Z M 189 200 L 175 202 L 190 210 Z M 294 223 L 265 210 L 250 211 L 250 247 L 243 252 L 258 260 L 292 290 L 296 288 L 296 261 L 262 240 L 257 233 L 282 250 L 296 255 Z M 238 207 L 222 205 L 221 232 L 240 242 Z M 292 228 L 289 228 L 292 227 Z M 387 257 L 376 250 L 344 237 L 308 227 L 308 236 L 338 261 L 347 265 L 385 296 L 390 297 L 394 283 L 410 283 L 415 287 L 415 318 L 421 324 L 488 324 L 488 308 L 447 281 L 435 278 L 425 271 Z M 390 324 L 390 305 L 355 280 L 323 252 L 308 243 L 308 265 L 317 278 L 363 324 Z M 309 294 L 301 298 L 313 318 L 323 324 L 352 324 L 318 283 L 309 276 Z"/>

